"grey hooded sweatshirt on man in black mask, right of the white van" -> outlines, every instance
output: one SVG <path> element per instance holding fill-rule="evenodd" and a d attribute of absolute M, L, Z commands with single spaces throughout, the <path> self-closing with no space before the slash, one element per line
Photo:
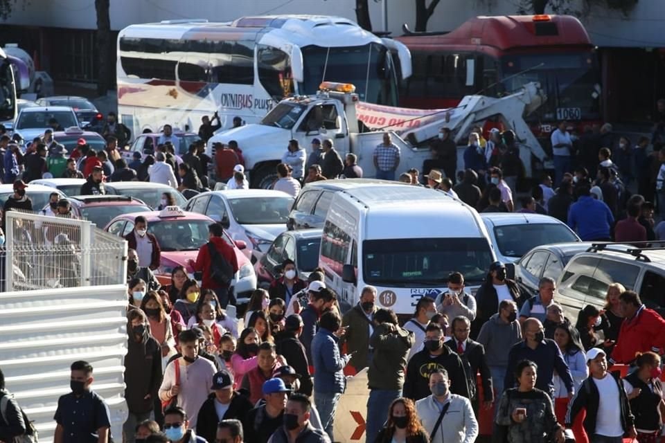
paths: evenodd
<path fill-rule="evenodd" d="M 488 366 L 507 366 L 508 350 L 520 341 L 522 341 L 520 322 L 515 320 L 513 323 L 504 323 L 499 314 L 491 316 L 478 334 L 478 343 L 485 347 Z"/>

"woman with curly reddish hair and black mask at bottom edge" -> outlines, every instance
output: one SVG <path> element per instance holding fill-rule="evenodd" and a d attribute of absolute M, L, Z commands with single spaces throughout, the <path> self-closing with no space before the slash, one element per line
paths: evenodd
<path fill-rule="evenodd" d="M 429 443 L 429 435 L 420 424 L 411 399 L 396 399 L 388 410 L 388 419 L 375 443 Z"/>

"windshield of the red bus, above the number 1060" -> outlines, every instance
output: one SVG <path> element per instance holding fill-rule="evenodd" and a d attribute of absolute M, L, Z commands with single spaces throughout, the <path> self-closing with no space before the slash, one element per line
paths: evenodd
<path fill-rule="evenodd" d="M 506 55 L 500 65 L 501 78 L 506 79 L 502 80 L 506 93 L 517 91 L 529 82 L 540 82 L 547 94 L 547 101 L 526 120 L 600 118 L 599 91 L 596 91 L 600 73 L 594 53 Z"/>

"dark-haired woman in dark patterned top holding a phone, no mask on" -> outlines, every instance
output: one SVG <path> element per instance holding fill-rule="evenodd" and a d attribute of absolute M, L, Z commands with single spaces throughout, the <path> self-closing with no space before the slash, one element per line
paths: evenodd
<path fill-rule="evenodd" d="M 549 394 L 535 388 L 536 372 L 533 361 L 517 363 L 515 377 L 520 386 L 504 391 L 501 397 L 496 422 L 508 427 L 508 443 L 565 441 Z"/>

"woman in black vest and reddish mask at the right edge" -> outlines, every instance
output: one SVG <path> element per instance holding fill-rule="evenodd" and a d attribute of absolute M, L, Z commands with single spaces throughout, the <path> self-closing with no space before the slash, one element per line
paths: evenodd
<path fill-rule="evenodd" d="M 660 357 L 655 352 L 638 352 L 637 370 L 623 379 L 623 388 L 635 415 L 635 429 L 639 443 L 659 442 L 663 426 L 663 383 L 660 381 Z"/>

